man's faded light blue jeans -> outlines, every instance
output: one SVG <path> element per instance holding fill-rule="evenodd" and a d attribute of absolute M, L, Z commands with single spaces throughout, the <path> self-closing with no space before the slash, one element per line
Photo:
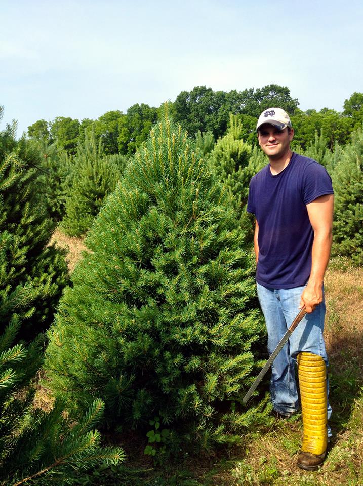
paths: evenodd
<path fill-rule="evenodd" d="M 267 348 L 271 354 L 284 336 L 292 321 L 299 312 L 300 297 L 303 287 L 294 289 L 268 289 L 257 284 L 258 299 L 265 317 L 267 327 Z M 306 314 L 277 355 L 272 364 L 270 392 L 273 408 L 283 415 L 291 415 L 298 410 L 299 397 L 295 380 L 296 357 L 301 352 L 321 356 L 328 366 L 325 349 L 324 318 L 325 301 L 321 302 L 311 314 Z M 329 394 L 329 382 L 327 382 Z M 328 400 L 328 420 L 332 408 Z M 328 427 L 328 435 L 331 435 Z"/>

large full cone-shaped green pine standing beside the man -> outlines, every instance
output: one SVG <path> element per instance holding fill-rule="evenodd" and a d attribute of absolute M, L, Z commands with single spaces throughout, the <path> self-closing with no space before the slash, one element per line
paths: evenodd
<path fill-rule="evenodd" d="M 250 246 L 193 143 L 166 115 L 136 152 L 89 232 L 46 370 L 70 409 L 102 397 L 109 424 L 157 415 L 208 450 L 266 417 L 240 406 L 264 327 Z"/>

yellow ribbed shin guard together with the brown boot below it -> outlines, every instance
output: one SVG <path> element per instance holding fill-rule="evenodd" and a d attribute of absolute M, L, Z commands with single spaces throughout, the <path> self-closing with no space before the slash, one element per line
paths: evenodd
<path fill-rule="evenodd" d="M 297 465 L 314 471 L 327 456 L 327 370 L 324 359 L 312 353 L 297 358 L 304 439 Z"/>

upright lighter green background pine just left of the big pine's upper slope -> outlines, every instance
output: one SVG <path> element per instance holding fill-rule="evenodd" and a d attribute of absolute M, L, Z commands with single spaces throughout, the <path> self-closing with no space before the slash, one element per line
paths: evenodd
<path fill-rule="evenodd" d="M 66 197 L 66 214 L 61 228 L 70 236 L 87 232 L 103 204 L 103 199 L 113 191 L 120 178 L 120 166 L 125 157 L 105 156 L 103 145 L 96 143 L 93 133 L 78 144 L 72 171 L 72 181 Z"/>

